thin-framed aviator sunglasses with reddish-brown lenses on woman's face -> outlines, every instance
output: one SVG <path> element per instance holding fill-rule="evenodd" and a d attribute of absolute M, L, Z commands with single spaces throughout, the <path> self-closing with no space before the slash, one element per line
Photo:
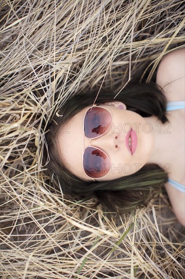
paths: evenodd
<path fill-rule="evenodd" d="M 83 132 L 86 138 L 92 140 L 104 135 L 111 125 L 111 113 L 103 107 L 96 107 L 95 104 L 85 113 Z M 84 172 L 92 180 L 107 176 L 111 169 L 111 161 L 108 155 L 101 149 L 91 146 L 90 141 L 89 146 L 83 152 L 82 164 Z"/>

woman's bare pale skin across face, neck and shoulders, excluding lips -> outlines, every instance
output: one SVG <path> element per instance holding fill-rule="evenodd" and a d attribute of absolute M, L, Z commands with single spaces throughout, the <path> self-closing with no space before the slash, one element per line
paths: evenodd
<path fill-rule="evenodd" d="M 164 88 L 168 101 L 184 100 L 184 61 L 184 49 L 180 49 L 169 53 L 160 62 L 156 83 Z M 169 87 L 170 92 L 166 90 Z M 146 163 L 157 163 L 169 172 L 169 178 L 185 184 L 184 110 L 168 112 L 169 123 L 162 124 L 155 116 L 143 118 L 126 110 L 122 102 L 114 101 L 101 106 L 111 112 L 113 124 L 104 135 L 91 140 L 90 145 L 100 148 L 109 156 L 111 170 L 106 177 L 97 180 L 114 180 L 131 175 Z M 63 127 L 58 136 L 62 161 L 72 173 L 87 181 L 91 179 L 83 170 L 82 156 L 85 147 L 89 146 L 89 140 L 83 133 L 83 119 L 89 107 L 76 114 L 67 123 L 67 129 Z M 137 148 L 133 155 L 125 147 L 125 135 L 129 129 L 125 123 L 137 129 Z M 169 183 L 165 184 L 165 188 L 178 221 L 185 226 L 185 195 Z"/>

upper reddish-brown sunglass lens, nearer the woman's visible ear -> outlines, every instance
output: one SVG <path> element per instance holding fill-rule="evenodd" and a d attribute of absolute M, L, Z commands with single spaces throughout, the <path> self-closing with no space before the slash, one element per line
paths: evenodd
<path fill-rule="evenodd" d="M 95 138 L 104 133 L 110 128 L 112 116 L 104 108 L 90 108 L 84 118 L 84 133 L 88 138 Z"/>

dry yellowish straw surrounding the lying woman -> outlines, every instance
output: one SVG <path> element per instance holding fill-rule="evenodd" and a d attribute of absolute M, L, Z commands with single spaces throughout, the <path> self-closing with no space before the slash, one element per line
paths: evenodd
<path fill-rule="evenodd" d="M 165 191 L 118 219 L 92 200 L 66 200 L 62 186 L 51 194 L 41 132 L 72 95 L 116 95 L 145 62 L 150 81 L 184 43 L 183 9 L 177 0 L 1 1 L 1 278 L 185 277 L 184 228 Z"/>

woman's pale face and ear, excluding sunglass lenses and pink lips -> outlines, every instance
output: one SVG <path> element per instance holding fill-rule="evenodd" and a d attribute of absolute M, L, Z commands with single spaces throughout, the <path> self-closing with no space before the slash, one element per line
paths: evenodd
<path fill-rule="evenodd" d="M 109 105 L 111 104 L 111 105 Z M 98 138 L 90 140 L 90 145 L 105 152 L 111 169 L 107 176 L 95 179 L 108 181 L 133 174 L 148 161 L 154 147 L 154 136 L 151 126 L 139 114 L 126 110 L 125 104 L 114 101 L 99 105 L 112 114 L 110 129 Z M 89 140 L 83 132 L 83 120 L 88 106 L 77 113 L 60 130 L 57 145 L 59 155 L 65 166 L 82 180 L 91 181 L 83 170 L 82 157 Z M 133 154 L 125 146 L 125 136 L 132 128 L 137 137 L 136 150 Z"/>

